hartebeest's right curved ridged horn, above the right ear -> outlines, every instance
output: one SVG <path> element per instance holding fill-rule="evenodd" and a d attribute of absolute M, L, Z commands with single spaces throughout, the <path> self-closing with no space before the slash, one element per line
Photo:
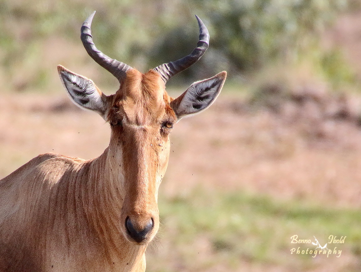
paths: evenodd
<path fill-rule="evenodd" d="M 173 75 L 186 70 L 189 66 L 197 62 L 209 46 L 208 29 L 197 15 L 196 18 L 199 25 L 199 41 L 197 43 L 197 47 L 193 49 L 192 53 L 182 59 L 164 63 L 153 69 L 161 75 L 165 83 L 167 83 Z"/>

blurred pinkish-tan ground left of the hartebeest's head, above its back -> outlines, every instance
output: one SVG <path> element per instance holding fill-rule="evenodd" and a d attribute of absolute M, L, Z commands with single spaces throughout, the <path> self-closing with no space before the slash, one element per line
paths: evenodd
<path fill-rule="evenodd" d="M 91 158 L 104 151 L 109 139 L 105 122 L 96 115 L 81 111 L 71 102 L 65 102 L 65 99 L 68 98 L 40 95 L 2 97 L 2 177 L 41 153 Z"/>

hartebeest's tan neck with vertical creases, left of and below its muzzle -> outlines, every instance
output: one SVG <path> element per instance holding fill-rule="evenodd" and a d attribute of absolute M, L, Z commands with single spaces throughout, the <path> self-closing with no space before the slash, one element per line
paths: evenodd
<path fill-rule="evenodd" d="M 109 261 L 124 260 L 129 265 L 140 262 L 147 246 L 135 245 L 124 237 L 120 220 L 123 206 L 121 194 L 122 173 L 114 167 L 110 147 L 99 157 L 88 161 L 87 192 L 85 205 L 87 218 L 100 246 L 109 254 Z M 129 256 L 129 257 L 128 257 Z M 125 260 L 124 260 L 125 262 Z"/>

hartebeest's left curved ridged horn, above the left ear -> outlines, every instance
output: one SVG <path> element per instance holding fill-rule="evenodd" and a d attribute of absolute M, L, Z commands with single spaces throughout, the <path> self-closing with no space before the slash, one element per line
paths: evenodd
<path fill-rule="evenodd" d="M 123 62 L 111 59 L 95 47 L 90 29 L 94 14 L 95 12 L 93 12 L 88 19 L 84 21 L 81 28 L 80 38 L 89 56 L 91 56 L 92 59 L 95 60 L 101 67 L 112 73 L 114 77 L 121 82 L 125 77 L 127 70 L 132 68 Z"/>

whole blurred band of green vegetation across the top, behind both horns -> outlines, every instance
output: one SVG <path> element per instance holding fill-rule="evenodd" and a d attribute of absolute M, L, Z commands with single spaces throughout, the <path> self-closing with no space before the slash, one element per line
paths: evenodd
<path fill-rule="evenodd" d="M 355 76 L 339 65 L 338 49 L 323 51 L 319 42 L 347 8 L 347 0 L 34 0 L 31 6 L 6 0 L 0 3 L 0 79 L 3 90 L 49 91 L 57 82 L 55 61 L 91 66 L 79 29 L 97 10 L 92 27 L 97 47 L 143 71 L 190 53 L 198 36 L 194 14 L 205 21 L 211 34 L 208 52 L 170 84 L 188 84 L 220 70 L 229 72 L 229 80 L 244 82 L 245 76 L 275 64 L 287 70 L 306 58 L 337 87 Z M 110 78 L 103 73 L 97 83 L 109 87 Z"/>

